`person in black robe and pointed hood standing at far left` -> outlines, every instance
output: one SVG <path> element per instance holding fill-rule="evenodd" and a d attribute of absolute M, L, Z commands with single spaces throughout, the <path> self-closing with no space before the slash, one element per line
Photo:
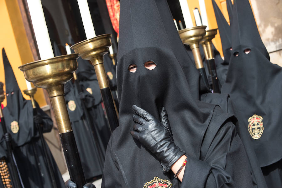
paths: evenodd
<path fill-rule="evenodd" d="M 33 117 L 31 101 L 24 99 L 4 48 L 2 55 L 7 99 L 7 106 L 3 109 L 3 115 L 7 131 L 10 133 L 14 143 L 13 152 L 24 187 L 51 188 L 52 181 L 43 157 L 44 152 L 39 139 L 39 132 L 34 124 L 40 123 L 42 125 L 42 132 L 50 132 L 53 126 L 52 119 L 40 109 L 38 104 L 36 104 L 38 115 L 35 118 Z M 2 129 L 0 130 L 1 135 L 3 135 Z M 64 181 L 60 171 L 46 142 L 45 144 L 51 159 L 57 187 L 63 187 Z"/>

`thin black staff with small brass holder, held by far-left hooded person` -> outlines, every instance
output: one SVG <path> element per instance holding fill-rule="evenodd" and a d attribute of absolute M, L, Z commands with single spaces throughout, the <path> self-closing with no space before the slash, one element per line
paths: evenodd
<path fill-rule="evenodd" d="M 30 89 L 29 87 L 28 87 L 28 89 L 24 90 L 24 94 L 26 94 L 30 97 L 34 117 L 37 115 L 37 109 L 36 109 L 35 100 L 34 100 L 34 94 L 36 93 L 36 90 L 37 90 L 37 88 L 31 88 Z M 40 127 L 40 124 L 38 124 L 38 123 L 35 123 L 35 127 L 39 132 L 39 138 L 40 138 L 40 142 L 42 144 L 42 149 L 43 149 L 43 153 L 44 153 L 43 158 L 44 158 L 44 161 L 47 164 L 48 172 L 49 172 L 49 175 L 50 175 L 51 181 L 52 181 L 52 186 L 54 188 L 56 188 L 57 184 L 56 184 L 56 181 L 55 181 L 55 174 L 54 174 L 54 170 L 51 166 L 51 159 L 50 159 L 48 152 L 47 152 L 47 147 L 46 147 L 46 144 L 45 144 L 45 141 L 44 141 L 42 129 Z"/>

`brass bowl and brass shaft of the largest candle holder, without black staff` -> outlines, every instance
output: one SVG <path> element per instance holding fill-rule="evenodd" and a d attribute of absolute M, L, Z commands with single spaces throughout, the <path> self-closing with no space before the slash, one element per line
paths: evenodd
<path fill-rule="evenodd" d="M 78 54 L 57 56 L 27 63 L 18 67 L 27 81 L 47 90 L 50 97 L 59 133 L 71 131 L 65 98 L 64 84 L 73 77 L 77 69 Z"/>

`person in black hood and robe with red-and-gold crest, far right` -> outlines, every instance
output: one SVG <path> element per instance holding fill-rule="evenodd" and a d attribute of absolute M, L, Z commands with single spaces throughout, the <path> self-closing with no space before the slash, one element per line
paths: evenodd
<path fill-rule="evenodd" d="M 269 187 L 282 187 L 282 68 L 269 61 L 248 0 L 234 0 L 229 93 L 243 142 L 251 143 Z M 255 159 L 254 159 L 255 160 Z"/>

